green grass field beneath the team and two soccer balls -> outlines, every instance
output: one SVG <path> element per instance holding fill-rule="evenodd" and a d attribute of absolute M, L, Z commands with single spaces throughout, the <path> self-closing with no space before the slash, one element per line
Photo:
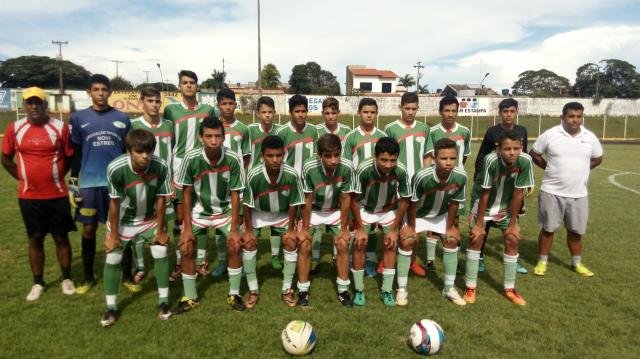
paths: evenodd
<path fill-rule="evenodd" d="M 477 148 L 478 143 L 473 146 Z M 305 310 L 287 308 L 279 298 L 281 274 L 271 269 L 268 240 L 264 240 L 258 263 L 262 295 L 254 310 L 233 312 L 225 302 L 227 281 L 209 276 L 199 280 L 201 306 L 196 312 L 161 322 L 156 318 L 157 294 L 151 274 L 139 294 L 131 295 L 121 288 L 121 316 L 108 330 L 99 325 L 104 308 L 102 280 L 84 296 L 64 296 L 50 239 L 46 242 L 47 291 L 34 303 L 25 301 L 32 283 L 15 199 L 17 184 L 0 171 L 0 357 L 286 357 L 280 346 L 280 330 L 293 319 L 307 320 L 316 327 L 314 357 L 409 357 L 413 356 L 406 345 L 409 327 L 418 319 L 430 318 L 444 328 L 446 343 L 441 355 L 445 357 L 635 358 L 640 332 L 635 273 L 640 242 L 633 223 L 640 213 L 639 148 L 606 145 L 601 168 L 591 174 L 584 261 L 596 273 L 592 278 L 571 271 L 564 233 L 558 233 L 547 275 L 531 273 L 537 260 L 537 206 L 535 199 L 527 200 L 520 253 L 530 274 L 518 275 L 517 281 L 528 301 L 524 308 L 501 296 L 502 245 L 496 230 L 487 243 L 487 271 L 479 276 L 478 302 L 466 307 L 457 307 L 440 295 L 439 249 L 435 275 L 428 280 L 409 278 L 408 307 L 385 308 L 377 300 L 376 281 L 366 279 L 367 306 L 342 308 L 335 300 L 335 273 L 327 243 L 321 272 L 312 281 L 311 306 Z M 467 162 L 470 172 L 474 157 Z M 539 184 L 542 173 L 536 170 L 535 174 Z M 615 176 L 613 181 L 611 176 Z M 466 242 L 468 227 L 461 222 Z M 101 226 L 98 238 L 102 233 Z M 72 233 L 71 238 L 73 275 L 79 281 L 79 233 Z M 210 250 L 215 266 L 213 243 Z M 418 253 L 424 259 L 424 243 Z M 149 256 L 147 259 L 152 263 Z M 100 276 L 103 263 L 104 253 L 99 249 L 96 273 Z M 460 276 L 456 283 L 464 288 Z M 180 282 L 171 286 L 172 304 L 181 294 Z"/>

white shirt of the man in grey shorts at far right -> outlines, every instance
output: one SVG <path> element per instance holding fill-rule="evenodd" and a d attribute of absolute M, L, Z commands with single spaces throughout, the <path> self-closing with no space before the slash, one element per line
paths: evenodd
<path fill-rule="evenodd" d="M 593 132 L 580 126 L 580 132 L 571 136 L 558 125 L 538 137 L 532 150 L 547 159 L 541 191 L 570 198 L 587 196 L 591 159 L 602 156 Z"/>

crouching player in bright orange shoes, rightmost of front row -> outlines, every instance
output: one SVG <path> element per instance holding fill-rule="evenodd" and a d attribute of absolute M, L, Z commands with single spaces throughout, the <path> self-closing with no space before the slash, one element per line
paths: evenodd
<path fill-rule="evenodd" d="M 526 305 L 527 302 L 515 290 L 516 263 L 520 226 L 518 213 L 522 207 L 524 190 L 534 184 L 531 157 L 522 153 L 522 138 L 505 132 L 498 139 L 495 152 L 485 157 L 483 175 L 475 181 L 469 217 L 469 248 L 465 282 L 467 289 L 463 299 L 467 303 L 476 301 L 476 282 L 480 248 L 485 236 L 485 222 L 492 221 L 502 230 L 504 238 L 504 295 L 512 303 Z"/>

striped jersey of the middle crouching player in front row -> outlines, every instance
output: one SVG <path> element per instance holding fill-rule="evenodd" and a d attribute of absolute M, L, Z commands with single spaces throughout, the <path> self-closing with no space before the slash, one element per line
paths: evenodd
<path fill-rule="evenodd" d="M 309 158 L 302 167 L 302 179 L 304 193 L 313 193 L 314 211 L 339 210 L 340 195 L 353 192 L 353 168 L 344 158 L 331 175 L 327 174 L 320 158 Z"/>

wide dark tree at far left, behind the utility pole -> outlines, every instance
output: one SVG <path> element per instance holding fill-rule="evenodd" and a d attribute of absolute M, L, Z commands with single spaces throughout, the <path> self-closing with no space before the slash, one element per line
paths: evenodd
<path fill-rule="evenodd" d="M 84 67 L 71 61 L 62 61 L 62 78 L 68 89 L 85 89 L 91 74 Z M 0 64 L 0 81 L 4 87 L 38 86 L 58 88 L 60 63 L 47 56 L 20 56 Z"/>

